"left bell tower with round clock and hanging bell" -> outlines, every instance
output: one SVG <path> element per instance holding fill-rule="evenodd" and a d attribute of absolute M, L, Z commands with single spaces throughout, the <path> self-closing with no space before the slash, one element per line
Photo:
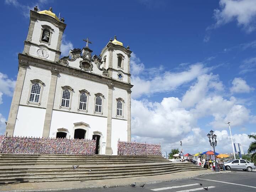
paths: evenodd
<path fill-rule="evenodd" d="M 34 7 L 30 11 L 30 26 L 23 54 L 58 62 L 65 27 L 64 18 L 59 19 L 52 12 L 52 7 L 44 11 Z"/>

